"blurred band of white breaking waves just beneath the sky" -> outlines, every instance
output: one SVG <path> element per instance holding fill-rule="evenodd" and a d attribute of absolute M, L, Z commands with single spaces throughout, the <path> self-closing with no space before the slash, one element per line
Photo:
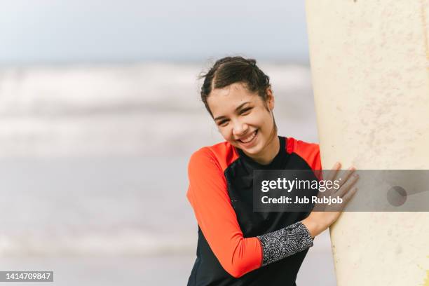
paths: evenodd
<path fill-rule="evenodd" d="M 280 134 L 315 141 L 310 71 L 271 76 Z M 0 69 L 0 156 L 184 156 L 222 138 L 199 100 L 197 64 Z"/>

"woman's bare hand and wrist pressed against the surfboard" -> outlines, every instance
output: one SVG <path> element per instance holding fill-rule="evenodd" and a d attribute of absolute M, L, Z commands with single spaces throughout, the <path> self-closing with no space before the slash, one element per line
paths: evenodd
<path fill-rule="evenodd" d="M 334 182 L 340 168 L 341 163 L 335 163 L 334 167 L 329 172 L 325 180 Z M 334 189 L 332 187 L 323 193 L 319 193 L 319 197 L 338 196 L 339 198 L 343 199 L 343 203 L 332 205 L 315 205 L 315 209 L 318 211 L 311 212 L 311 214 L 302 221 L 302 224 L 304 224 L 308 231 L 310 231 L 311 237 L 314 238 L 315 236 L 318 236 L 320 233 L 322 233 L 322 231 L 325 231 L 325 229 L 331 226 L 336 221 L 336 219 L 339 218 L 342 210 L 344 207 L 346 207 L 346 204 L 350 198 L 352 198 L 352 196 L 357 191 L 357 188 L 352 188 L 352 186 L 359 178 L 359 175 L 353 175 L 353 172 L 355 172 L 355 168 L 350 167 L 344 175 L 338 178 L 340 182 L 340 187 L 338 189 Z"/>

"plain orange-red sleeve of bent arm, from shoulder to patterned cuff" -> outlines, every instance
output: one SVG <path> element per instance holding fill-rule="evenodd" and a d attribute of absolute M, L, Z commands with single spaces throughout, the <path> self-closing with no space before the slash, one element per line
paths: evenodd
<path fill-rule="evenodd" d="M 207 243 L 226 272 L 238 278 L 261 266 L 258 238 L 244 238 L 231 206 L 222 168 L 212 151 L 196 151 L 189 161 L 186 196 Z"/>

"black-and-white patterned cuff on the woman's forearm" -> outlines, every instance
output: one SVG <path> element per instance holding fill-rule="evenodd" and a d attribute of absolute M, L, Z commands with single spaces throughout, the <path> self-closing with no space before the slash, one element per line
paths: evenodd
<path fill-rule="evenodd" d="M 313 246 L 310 232 L 301 222 L 296 222 L 278 231 L 257 236 L 261 240 L 262 266 L 288 257 Z"/>

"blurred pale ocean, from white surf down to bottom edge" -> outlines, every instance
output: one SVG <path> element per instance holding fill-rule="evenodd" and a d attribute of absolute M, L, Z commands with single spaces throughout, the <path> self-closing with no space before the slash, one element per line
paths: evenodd
<path fill-rule="evenodd" d="M 259 66 L 279 134 L 317 142 L 309 68 Z M 57 285 L 184 285 L 197 237 L 187 161 L 222 141 L 199 100 L 206 68 L 0 69 L 0 270 L 53 270 Z M 298 282 L 334 285 L 327 233 Z"/>

